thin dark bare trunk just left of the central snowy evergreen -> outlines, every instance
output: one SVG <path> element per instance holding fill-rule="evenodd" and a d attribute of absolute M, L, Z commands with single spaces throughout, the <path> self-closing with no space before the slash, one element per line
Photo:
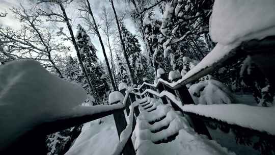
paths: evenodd
<path fill-rule="evenodd" d="M 134 84 L 136 84 L 136 82 L 135 82 L 135 79 L 134 79 L 133 70 L 132 70 L 132 68 L 130 66 L 130 62 L 129 62 L 129 59 L 128 59 L 128 56 L 127 56 L 127 53 L 126 53 L 125 44 L 124 44 L 123 39 L 122 39 L 122 34 L 121 34 L 121 30 L 120 30 L 120 25 L 119 25 L 119 20 L 118 20 L 117 12 L 116 12 L 113 0 L 110 0 L 110 2 L 111 2 L 111 5 L 112 5 L 112 8 L 113 8 L 115 17 L 116 17 L 116 22 L 117 22 L 118 31 L 119 31 L 119 38 L 120 38 L 120 42 L 121 42 L 121 45 L 122 45 L 122 50 L 123 50 L 124 58 L 126 60 L 128 68 L 129 68 L 132 84 L 134 85 Z"/>

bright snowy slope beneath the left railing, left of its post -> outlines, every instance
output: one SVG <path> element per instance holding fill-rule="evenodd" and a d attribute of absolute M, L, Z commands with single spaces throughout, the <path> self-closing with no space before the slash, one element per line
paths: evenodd
<path fill-rule="evenodd" d="M 65 155 L 112 154 L 119 143 L 113 115 L 86 123 Z"/>

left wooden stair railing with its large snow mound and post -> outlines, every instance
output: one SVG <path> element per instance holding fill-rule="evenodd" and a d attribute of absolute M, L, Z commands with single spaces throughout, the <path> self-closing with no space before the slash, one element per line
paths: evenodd
<path fill-rule="evenodd" d="M 127 131 L 119 151 L 125 146 L 123 154 L 135 154 L 127 139 L 135 122 L 126 127 L 123 112 L 134 100 L 129 92 L 122 93 L 120 100 L 109 96 L 112 105 L 81 106 L 87 95 L 80 86 L 59 79 L 33 60 L 7 63 L 0 67 L 0 154 L 46 154 L 46 135 L 111 114 L 119 135 Z"/>

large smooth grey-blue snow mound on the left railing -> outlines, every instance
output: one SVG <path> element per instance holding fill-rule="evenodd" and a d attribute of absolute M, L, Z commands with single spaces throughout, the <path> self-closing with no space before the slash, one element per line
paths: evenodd
<path fill-rule="evenodd" d="M 84 89 L 52 75 L 36 61 L 0 66 L 0 148 L 85 99 Z"/>

